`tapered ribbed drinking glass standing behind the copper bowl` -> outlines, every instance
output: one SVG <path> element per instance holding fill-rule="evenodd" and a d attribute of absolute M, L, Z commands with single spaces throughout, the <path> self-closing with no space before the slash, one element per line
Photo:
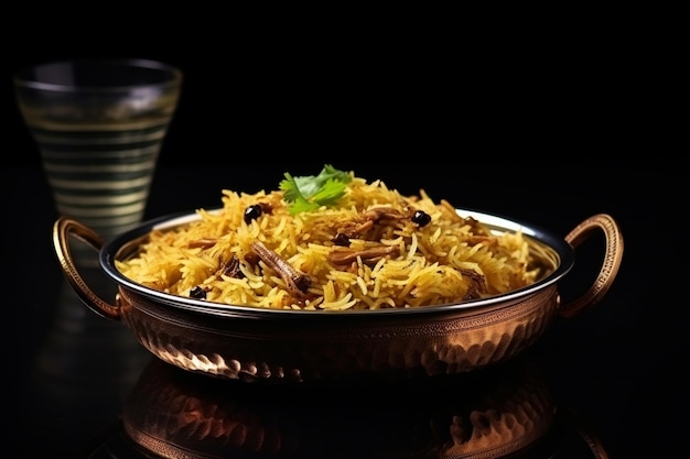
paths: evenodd
<path fill-rule="evenodd" d="M 14 75 L 56 210 L 105 239 L 141 222 L 182 72 L 148 59 L 42 63 Z"/>

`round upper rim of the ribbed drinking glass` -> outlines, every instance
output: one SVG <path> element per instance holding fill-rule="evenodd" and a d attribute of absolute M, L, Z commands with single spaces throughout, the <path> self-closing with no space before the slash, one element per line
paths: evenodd
<path fill-rule="evenodd" d="M 41 68 L 57 67 L 63 65 L 109 65 L 112 67 L 138 67 L 157 70 L 161 78 L 151 81 L 121 84 L 121 85 L 75 85 L 66 83 L 52 83 L 37 78 L 35 73 Z M 14 73 L 14 85 L 18 87 L 40 89 L 56 92 L 67 91 L 100 91 L 111 92 L 130 90 L 132 88 L 180 86 L 182 84 L 182 70 L 172 64 L 148 58 L 74 58 L 43 62 L 23 67 Z"/>

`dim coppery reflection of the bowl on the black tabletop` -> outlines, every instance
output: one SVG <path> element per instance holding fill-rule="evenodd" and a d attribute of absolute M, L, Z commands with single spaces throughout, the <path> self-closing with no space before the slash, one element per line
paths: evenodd
<path fill-rule="evenodd" d="M 176 459 L 472 458 L 479 452 L 483 458 L 558 458 L 563 441 L 576 436 L 556 412 L 541 375 L 522 359 L 457 378 L 366 385 L 246 384 L 155 359 L 125 405 L 122 428 L 91 458 L 119 458 L 127 447 L 143 458 Z"/>

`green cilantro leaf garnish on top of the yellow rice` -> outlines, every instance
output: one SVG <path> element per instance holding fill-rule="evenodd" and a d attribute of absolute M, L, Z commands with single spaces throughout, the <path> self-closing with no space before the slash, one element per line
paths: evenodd
<path fill-rule="evenodd" d="M 285 192 L 283 199 L 289 203 L 291 215 L 334 205 L 345 194 L 347 183 L 352 179 L 351 173 L 338 171 L 331 164 L 324 165 L 316 176 L 293 177 L 287 172 L 284 176 L 280 189 Z"/>

